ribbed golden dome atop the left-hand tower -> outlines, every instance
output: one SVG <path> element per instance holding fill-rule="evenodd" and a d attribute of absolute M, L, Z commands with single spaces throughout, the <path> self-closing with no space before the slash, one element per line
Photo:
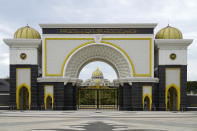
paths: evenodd
<path fill-rule="evenodd" d="M 25 27 L 19 28 L 14 33 L 14 38 L 15 39 L 40 39 L 40 34 L 37 30 L 27 25 Z"/>

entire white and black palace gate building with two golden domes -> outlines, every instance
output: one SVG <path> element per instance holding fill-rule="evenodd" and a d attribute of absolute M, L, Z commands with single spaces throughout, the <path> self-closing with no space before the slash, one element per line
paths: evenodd
<path fill-rule="evenodd" d="M 11 109 L 184 110 L 187 108 L 187 48 L 192 39 L 155 23 L 40 24 L 29 26 L 10 48 Z M 109 82 L 97 68 L 79 79 L 84 66 L 103 61 L 116 72 Z"/>

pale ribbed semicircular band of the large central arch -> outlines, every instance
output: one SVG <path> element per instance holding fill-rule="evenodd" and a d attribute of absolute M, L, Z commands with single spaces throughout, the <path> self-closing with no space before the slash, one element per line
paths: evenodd
<path fill-rule="evenodd" d="M 64 77 L 78 78 L 82 68 L 92 61 L 103 61 L 111 65 L 118 78 L 133 76 L 130 60 L 118 48 L 107 43 L 91 43 L 76 50 L 64 67 Z"/>

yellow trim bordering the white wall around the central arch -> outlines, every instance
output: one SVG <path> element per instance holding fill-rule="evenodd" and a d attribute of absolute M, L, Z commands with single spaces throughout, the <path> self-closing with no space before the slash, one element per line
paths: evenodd
<path fill-rule="evenodd" d="M 47 40 L 91 40 L 89 42 L 86 42 L 84 44 L 81 44 L 80 46 L 76 47 L 75 49 L 73 49 L 65 58 L 64 62 L 63 62 L 63 65 L 62 65 L 62 68 L 61 68 L 61 73 L 60 74 L 48 74 L 47 73 L 47 68 L 46 68 L 46 65 L 47 65 L 47 46 L 46 46 L 46 43 L 47 43 Z M 134 77 L 145 77 L 145 76 L 152 76 L 152 38 L 103 38 L 102 40 L 149 40 L 149 53 L 150 53 L 150 56 L 149 56 L 149 59 L 150 59 L 150 62 L 149 62 L 149 74 L 136 74 L 135 73 L 135 68 L 134 68 L 134 64 L 133 62 L 131 61 L 130 57 L 128 56 L 128 54 L 122 49 L 120 48 L 119 46 L 113 44 L 113 43 L 110 43 L 110 42 L 107 42 L 107 41 L 101 41 L 101 43 L 105 43 L 105 44 L 108 44 L 108 45 L 111 45 L 115 48 L 117 48 L 118 50 L 120 50 L 128 59 L 131 67 L 132 67 L 132 71 L 133 71 L 133 76 Z M 45 45 L 44 45 L 44 52 L 45 52 L 45 76 L 63 76 L 63 71 L 64 71 L 64 66 L 67 62 L 67 60 L 69 59 L 69 57 L 76 51 L 78 50 L 79 48 L 83 47 L 83 46 L 86 46 L 88 44 L 91 44 L 91 43 L 95 43 L 94 41 L 94 38 L 45 38 Z"/>

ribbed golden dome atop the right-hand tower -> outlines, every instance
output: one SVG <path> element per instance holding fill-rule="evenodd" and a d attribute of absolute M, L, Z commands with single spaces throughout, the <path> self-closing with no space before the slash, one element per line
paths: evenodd
<path fill-rule="evenodd" d="M 155 39 L 183 39 L 183 36 L 180 30 L 168 25 L 157 32 Z"/>

